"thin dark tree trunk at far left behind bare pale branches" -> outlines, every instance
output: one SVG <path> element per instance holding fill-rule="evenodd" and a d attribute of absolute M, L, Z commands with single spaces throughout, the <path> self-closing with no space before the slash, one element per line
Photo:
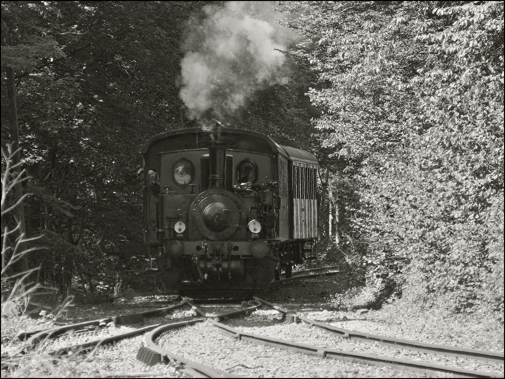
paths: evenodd
<path fill-rule="evenodd" d="M 14 79 L 14 69 L 12 67 L 7 67 L 7 97 L 9 101 L 9 124 L 10 124 L 10 142 L 12 148 L 12 165 L 13 165 L 13 174 L 14 177 L 17 178 L 21 172 L 20 161 L 21 154 L 19 152 L 19 129 L 18 129 L 18 112 L 16 107 L 16 86 Z M 14 187 L 14 196 L 15 201 L 19 204 L 16 207 L 17 212 L 17 222 L 19 224 L 19 231 L 22 238 L 26 238 L 26 226 L 25 226 L 25 209 L 23 204 L 23 187 L 21 185 L 21 181 L 17 181 Z M 21 238 L 21 240 L 22 240 Z M 25 242 L 21 242 L 18 251 L 25 251 L 27 248 Z M 29 269 L 28 266 L 28 256 L 26 254 L 20 259 L 20 269 L 22 272 L 27 272 Z"/>

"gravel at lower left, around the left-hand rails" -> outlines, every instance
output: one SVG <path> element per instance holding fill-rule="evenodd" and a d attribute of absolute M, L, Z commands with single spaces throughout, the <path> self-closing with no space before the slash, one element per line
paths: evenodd
<path fill-rule="evenodd" d="M 88 319 L 106 318 L 117 314 L 131 314 L 141 312 L 144 307 L 137 307 L 134 304 L 118 308 L 109 314 L 98 315 L 94 312 L 94 307 L 90 309 Z M 162 305 L 164 306 L 164 305 Z M 162 307 L 162 306 L 156 306 Z M 140 309 L 140 310 L 139 310 Z M 53 351 L 72 344 L 83 343 L 99 338 L 109 337 L 133 331 L 148 324 L 168 323 L 183 321 L 194 317 L 194 311 L 189 307 L 175 309 L 164 317 L 150 317 L 143 323 L 131 326 L 115 326 L 112 322 L 99 330 L 91 330 L 80 333 L 67 333 L 56 340 L 47 340 L 39 345 L 37 354 L 33 359 L 23 360 L 20 368 L 14 373 L 2 372 L 2 377 L 36 377 L 38 375 L 48 375 L 52 377 L 189 377 L 178 372 L 171 364 L 157 364 L 149 367 L 136 359 L 138 350 L 143 346 L 145 335 L 139 335 L 114 344 L 114 346 L 103 346 L 92 353 L 79 356 L 69 356 L 57 361 L 49 362 L 44 356 L 44 352 Z M 84 317 L 86 318 L 86 317 Z M 81 317 L 76 321 L 81 321 Z M 4 322 L 4 320 L 2 320 Z M 54 325 L 44 324 L 44 327 L 54 327 Z M 39 329 L 30 328 L 29 330 Z M 22 341 L 10 340 L 2 343 L 2 356 L 13 356 L 19 354 L 23 346 Z M 36 373 L 36 374 L 34 374 Z"/>

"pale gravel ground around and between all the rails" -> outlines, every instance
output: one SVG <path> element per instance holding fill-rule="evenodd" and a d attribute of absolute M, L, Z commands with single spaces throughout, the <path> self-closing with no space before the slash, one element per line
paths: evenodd
<path fill-rule="evenodd" d="M 472 315 L 450 314 L 447 316 L 446 313 L 437 313 L 432 310 L 418 313 L 411 311 L 404 314 L 402 312 L 405 308 L 397 308 L 396 304 L 387 305 L 378 311 L 366 309 L 352 312 L 343 311 L 340 310 L 341 304 L 335 301 L 332 294 L 344 292 L 345 288 L 340 284 L 338 277 L 332 276 L 304 282 L 293 281 L 277 284 L 259 291 L 257 296 L 339 328 L 433 344 L 503 352 L 502 323 L 492 320 L 487 322 L 483 317 L 479 318 L 479 322 L 475 322 Z M 78 305 L 64 313 L 66 318 L 61 317 L 60 321 L 74 323 L 115 315 L 127 315 L 174 305 L 180 301 L 175 295 L 159 295 L 136 297 L 130 301 L 120 300 L 98 305 Z M 211 314 L 212 312 L 207 308 L 212 309 L 215 305 L 198 306 L 206 308 L 205 311 Z M 223 307 L 218 312 L 229 310 L 231 309 Z M 171 322 L 193 315 L 194 313 L 189 307 L 184 307 L 169 313 L 169 321 L 162 317 L 147 318 L 143 325 L 135 324 L 113 327 L 112 329 L 114 333 L 116 331 L 122 333 L 126 330 L 140 328 L 147 323 Z M 277 311 L 261 309 L 247 318 L 231 319 L 226 322 L 245 332 L 270 337 L 277 336 L 320 346 L 337 347 L 342 350 L 362 349 L 364 346 L 364 343 L 342 340 L 323 331 L 306 328 L 303 324 L 289 324 L 286 329 L 283 329 L 279 324 L 280 317 L 281 315 Z M 12 337 L 21 329 L 31 331 L 50 327 L 54 327 L 54 324 L 49 322 L 47 318 L 38 320 L 26 317 L 11 320 L 2 318 L 2 355 L 12 356 L 19 352 L 23 342 L 15 341 Z M 287 334 L 288 332 L 290 334 Z M 66 338 L 70 341 L 71 337 L 69 335 Z M 91 333 L 89 339 L 95 338 L 97 338 L 96 335 Z M 72 356 L 53 363 L 48 363 L 42 356 L 26 359 L 22 363 L 21 369 L 14 373 L 3 372 L 2 377 L 187 377 L 187 375 L 177 372 L 176 368 L 170 364 L 157 364 L 148 367 L 137 361 L 136 355 L 143 341 L 144 336 L 137 336 L 121 341 L 114 346 L 101 348 L 84 357 Z M 395 372 L 388 367 L 343 363 L 338 360 L 292 353 L 263 345 L 246 344 L 224 336 L 209 323 L 167 332 L 161 336 L 160 343 L 175 354 L 247 377 L 404 377 L 404 373 Z M 365 345 L 372 345 L 369 348 L 377 354 L 380 352 L 381 355 L 385 354 L 384 349 L 388 349 L 375 344 Z M 392 351 L 395 356 L 403 354 L 396 350 Z M 420 358 L 428 359 L 424 355 Z M 438 358 L 434 360 L 436 361 L 436 359 Z M 445 361 L 436 363 L 440 362 Z M 464 364 L 467 368 L 473 368 L 474 362 Z M 494 371 L 503 373 L 503 368 L 492 368 Z M 490 370 L 491 367 L 479 366 L 478 369 Z M 420 375 L 407 373 L 407 376 L 419 377 Z"/>

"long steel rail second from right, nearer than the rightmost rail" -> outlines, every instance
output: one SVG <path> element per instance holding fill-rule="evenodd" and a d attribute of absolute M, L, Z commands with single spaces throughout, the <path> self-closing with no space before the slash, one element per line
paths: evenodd
<path fill-rule="evenodd" d="M 497 374 L 493 372 L 474 371 L 422 361 L 385 357 L 376 354 L 355 353 L 340 349 L 328 349 L 325 347 L 289 342 L 285 340 L 279 340 L 276 338 L 241 332 L 239 330 L 230 328 L 225 324 L 222 324 L 209 318 L 207 318 L 206 321 L 210 322 L 215 327 L 219 328 L 223 334 L 234 337 L 240 341 L 259 343 L 262 345 L 273 346 L 288 351 L 315 355 L 322 358 L 333 358 L 349 362 L 361 362 L 377 366 L 390 366 L 395 369 L 409 370 L 419 373 L 437 374 L 437 375 L 450 374 L 454 375 L 453 377 L 503 377 L 502 374 Z"/>

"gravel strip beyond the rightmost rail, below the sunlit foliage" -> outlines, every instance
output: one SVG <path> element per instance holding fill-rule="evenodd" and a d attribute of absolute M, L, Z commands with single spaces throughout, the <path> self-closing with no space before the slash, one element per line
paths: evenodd
<path fill-rule="evenodd" d="M 499 314 L 451 313 L 440 309 L 409 306 L 401 300 L 382 309 L 365 307 L 348 311 L 333 294 L 344 293 L 338 277 L 292 282 L 267 288 L 258 297 L 316 321 L 387 337 L 430 344 L 503 353 L 503 321 Z M 359 295 L 362 296 L 362 295 Z M 362 296 L 366 303 L 369 296 Z M 347 299 L 359 308 L 360 301 Z M 340 310 L 340 309 L 344 310 Z"/>

